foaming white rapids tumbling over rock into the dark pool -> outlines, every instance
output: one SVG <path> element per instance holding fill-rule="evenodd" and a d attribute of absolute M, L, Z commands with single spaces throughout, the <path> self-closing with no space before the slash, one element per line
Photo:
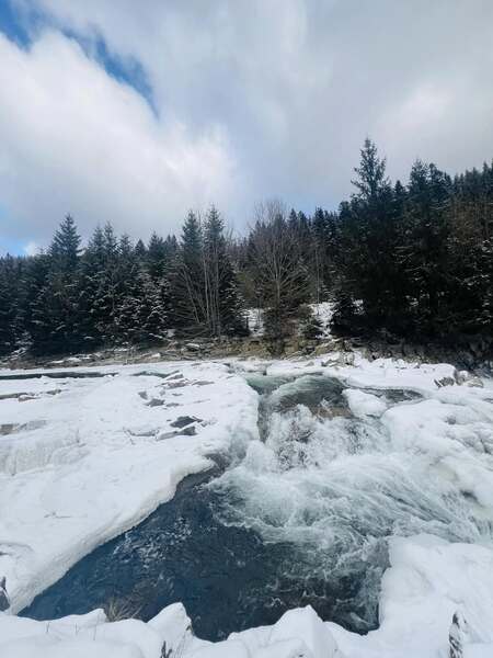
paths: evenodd
<path fill-rule="evenodd" d="M 392 392 L 374 398 L 377 408 L 390 408 L 383 417 L 357 418 L 341 390 L 334 381 L 311 376 L 264 394 L 263 440 L 252 442 L 210 487 L 223 494 L 221 522 L 253 529 L 264 542 L 293 545 L 293 571 L 285 577 L 305 577 L 308 589 L 312 581 L 328 582 L 329 595 L 332 589 L 335 598 L 353 597 L 355 614 L 371 625 L 388 536 L 426 532 L 483 543 L 493 536 L 493 519 L 459 486 L 433 442 L 427 450 L 417 435 L 416 443 L 409 435 L 397 440 L 389 429 L 392 415 L 420 415 L 428 400 L 406 400 L 402 393 L 395 401 Z M 305 404 L 293 406 L 300 397 Z M 463 458 L 469 452 L 473 460 L 474 427 L 463 431 L 460 413 L 449 419 L 457 426 L 452 440 Z M 477 420 L 471 413 L 466 421 Z"/>

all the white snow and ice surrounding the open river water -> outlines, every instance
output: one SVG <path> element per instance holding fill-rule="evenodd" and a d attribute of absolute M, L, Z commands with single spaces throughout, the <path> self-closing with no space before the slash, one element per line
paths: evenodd
<path fill-rule="evenodd" d="M 134 376 L 145 368 L 179 373 L 168 379 Z M 385 428 L 389 468 L 397 457 L 409 458 L 413 465 L 406 470 L 401 464 L 403 477 L 414 476 L 413 468 L 428 474 L 420 484 L 429 489 L 429 500 L 439 500 L 434 498 L 438 492 L 466 497 L 470 507 L 450 508 L 457 511 L 450 523 L 463 540 L 395 533 L 389 540 L 391 566 L 381 582 L 380 625 L 367 635 L 323 623 L 310 608 L 218 644 L 193 637 L 179 604 L 147 624 L 110 623 L 102 611 L 56 622 L 0 614 L 0 656 L 446 658 L 451 635 L 463 649 L 457 657 L 491 658 L 493 382 L 457 377 L 446 364 L 369 363 L 344 354 L 238 361 L 233 368 L 236 373 L 220 364 L 168 363 L 107 368 L 117 374 L 99 379 L 0 382 L 0 396 L 28 394 L 0 399 L 5 432 L 0 436 L 0 576 L 7 576 L 13 611 L 98 544 L 170 499 L 181 478 L 207 467 L 208 453 L 236 441 L 252 447 L 259 443 L 257 398 L 243 381 L 244 372 L 322 373 L 340 379 L 352 412 L 378 419 Z M 402 388 L 422 397 L 395 404 L 375 395 Z M 163 438 L 172 431 L 171 422 L 185 415 L 200 419 L 196 434 Z M 381 446 L 362 464 L 378 464 L 386 476 Z M 382 485 L 381 504 L 387 500 Z M 170 654 L 162 650 L 164 643 Z"/>

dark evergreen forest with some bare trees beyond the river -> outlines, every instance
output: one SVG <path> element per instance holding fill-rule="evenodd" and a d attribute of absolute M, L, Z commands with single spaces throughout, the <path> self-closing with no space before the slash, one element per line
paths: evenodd
<path fill-rule="evenodd" d="M 416 161 L 391 183 L 367 139 L 353 183 L 337 212 L 262 203 L 242 238 L 211 207 L 190 212 L 179 238 L 133 243 L 106 224 L 82 248 L 69 215 L 46 252 L 0 259 L 0 353 L 245 336 L 248 307 L 282 353 L 300 322 L 318 334 L 307 304 L 323 300 L 341 333 L 491 337 L 493 163 L 452 178 Z"/>

